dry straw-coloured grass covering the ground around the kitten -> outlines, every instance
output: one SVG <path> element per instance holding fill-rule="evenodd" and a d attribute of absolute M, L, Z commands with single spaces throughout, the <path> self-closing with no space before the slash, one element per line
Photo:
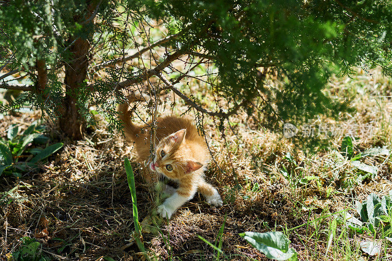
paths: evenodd
<path fill-rule="evenodd" d="M 391 96 L 391 80 L 379 71 L 373 74 L 374 79 L 359 71 L 352 79 L 336 79 L 331 86 L 333 95 L 356 96 L 358 112 L 343 122 L 343 129 L 352 124 L 372 126 L 371 135 L 357 133 L 357 153 L 374 146 L 391 149 L 391 98 L 370 98 Z M 177 106 L 174 114 L 184 109 Z M 38 113 L 6 116 L 0 121 L 1 136 L 5 136 L 8 125 L 17 123 L 25 129 L 39 117 Z M 245 115 L 233 119 L 233 123 L 238 135 L 226 130 L 226 145 L 213 122 L 205 122 L 207 140 L 223 171 L 211 163 L 206 173 L 207 180 L 224 198 L 219 209 L 196 194 L 169 221 L 157 218 L 153 208 L 156 195 L 143 183 L 137 164 L 133 164 L 143 239 L 151 257 L 213 260 L 214 249 L 198 236 L 215 243 L 226 219 L 221 236 L 222 259 L 267 260 L 239 233 L 276 230 L 289 236 L 300 260 L 368 260 L 358 247 L 359 241 L 368 236 L 347 232 L 342 224 L 337 231 L 342 237 L 336 236 L 325 253 L 333 218 L 328 214 L 345 209 L 355 214 L 354 199 L 364 200 L 370 192 L 388 194 L 392 190 L 391 158 L 366 158 L 365 163 L 378 166 L 379 173 L 355 183 L 358 171 L 335 151 L 344 136 L 336 137 L 330 150 L 306 156 L 280 133 L 258 128 Z M 66 144 L 60 153 L 49 158 L 38 172 L 22 179 L 0 177 L 0 191 L 5 192 L 0 201 L 0 259 L 6 260 L 6 254 L 20 249 L 24 236 L 35 237 L 42 243 L 42 254 L 53 259 L 142 259 L 130 240 L 134 230 L 132 204 L 123 168 L 124 157 L 134 159 L 132 144 L 124 144 L 119 135 L 111 138 L 104 126 L 91 130 L 83 141 L 72 142 L 53 124 L 46 124 L 53 142 Z M 287 153 L 295 162 L 286 157 Z M 305 176 L 318 179 L 298 183 Z M 382 254 L 370 260 L 391 258 L 391 244 L 384 241 Z"/>

